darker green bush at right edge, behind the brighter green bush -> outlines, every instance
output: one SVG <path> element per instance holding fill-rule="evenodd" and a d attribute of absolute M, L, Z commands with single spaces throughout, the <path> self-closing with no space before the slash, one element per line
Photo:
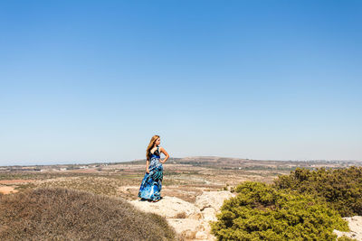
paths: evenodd
<path fill-rule="evenodd" d="M 362 167 L 296 169 L 274 181 L 279 190 L 309 193 L 329 202 L 342 217 L 362 215 Z"/>

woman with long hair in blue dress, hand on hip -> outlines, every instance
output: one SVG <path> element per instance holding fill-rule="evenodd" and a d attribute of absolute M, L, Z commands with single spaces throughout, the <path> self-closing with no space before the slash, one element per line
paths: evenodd
<path fill-rule="evenodd" d="M 161 139 L 159 135 L 154 135 L 148 144 L 146 150 L 146 173 L 138 190 L 138 198 L 140 200 L 159 201 L 161 197 L 162 179 L 163 179 L 163 163 L 169 157 L 163 147 L 160 147 Z M 166 155 L 164 160 L 161 160 L 161 153 Z"/>

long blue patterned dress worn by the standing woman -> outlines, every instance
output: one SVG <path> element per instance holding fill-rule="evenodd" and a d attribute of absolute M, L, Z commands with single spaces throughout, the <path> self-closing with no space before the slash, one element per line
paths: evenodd
<path fill-rule="evenodd" d="M 141 186 L 138 190 L 138 198 L 141 200 L 158 200 L 161 199 L 162 179 L 163 179 L 163 166 L 159 162 L 161 156 L 159 153 L 159 146 L 157 151 L 149 153 L 150 162 L 148 166 L 148 172 L 141 182 Z"/>

